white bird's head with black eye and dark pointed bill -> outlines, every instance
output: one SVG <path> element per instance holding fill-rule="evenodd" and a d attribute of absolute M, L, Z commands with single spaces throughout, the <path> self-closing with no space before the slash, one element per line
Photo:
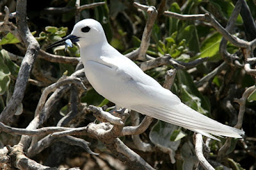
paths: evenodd
<path fill-rule="evenodd" d="M 72 43 L 78 42 L 81 47 L 106 42 L 106 36 L 101 24 L 97 20 L 84 19 L 74 26 L 72 33 L 62 40 L 53 43 L 48 48 L 67 44 L 66 40 Z"/>

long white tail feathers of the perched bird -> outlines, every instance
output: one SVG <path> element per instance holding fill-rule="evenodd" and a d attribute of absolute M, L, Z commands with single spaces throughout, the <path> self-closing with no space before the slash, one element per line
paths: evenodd
<path fill-rule="evenodd" d="M 161 105 L 159 107 L 152 105 L 134 105 L 131 109 L 152 116 L 158 120 L 188 128 L 189 130 L 211 137 L 217 141 L 220 141 L 220 139 L 213 135 L 241 138 L 241 135 L 244 134 L 243 130 L 223 125 L 218 121 L 212 120 L 211 118 L 194 111 L 181 102 L 177 105 Z"/>

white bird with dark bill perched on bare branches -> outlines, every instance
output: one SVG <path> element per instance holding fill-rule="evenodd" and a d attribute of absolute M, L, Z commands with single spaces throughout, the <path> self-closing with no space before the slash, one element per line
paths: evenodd
<path fill-rule="evenodd" d="M 93 88 L 118 106 L 188 128 L 212 139 L 213 135 L 241 138 L 243 130 L 223 125 L 180 101 L 168 89 L 145 74 L 131 59 L 109 45 L 99 22 L 84 19 L 70 35 L 50 47 L 80 45 L 85 75 Z M 212 135 L 211 135 L 212 134 Z"/>

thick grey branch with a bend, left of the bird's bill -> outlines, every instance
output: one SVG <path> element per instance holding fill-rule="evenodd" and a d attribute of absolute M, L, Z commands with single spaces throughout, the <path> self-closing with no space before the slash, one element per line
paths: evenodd
<path fill-rule="evenodd" d="M 10 98 L 10 101 L 4 108 L 3 112 L 0 114 L 0 121 L 3 123 L 8 123 L 12 116 L 17 111 L 22 99 L 24 97 L 26 84 L 29 79 L 29 75 L 31 73 L 31 69 L 35 58 L 37 56 L 38 50 L 40 46 L 33 35 L 31 35 L 28 24 L 27 24 L 27 16 L 26 16 L 26 0 L 17 1 L 17 27 L 20 38 L 25 43 L 26 47 L 28 47 L 26 51 L 26 55 L 21 63 L 20 70 L 18 73 L 18 77 L 15 83 L 13 95 Z"/>

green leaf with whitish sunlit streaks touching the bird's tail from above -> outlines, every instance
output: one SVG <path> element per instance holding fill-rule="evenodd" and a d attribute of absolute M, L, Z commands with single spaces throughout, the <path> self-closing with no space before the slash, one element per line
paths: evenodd
<path fill-rule="evenodd" d="M 180 99 L 182 102 L 195 111 L 207 115 L 211 106 L 198 91 L 189 73 L 184 70 L 178 70 L 176 76 L 179 84 Z"/>

